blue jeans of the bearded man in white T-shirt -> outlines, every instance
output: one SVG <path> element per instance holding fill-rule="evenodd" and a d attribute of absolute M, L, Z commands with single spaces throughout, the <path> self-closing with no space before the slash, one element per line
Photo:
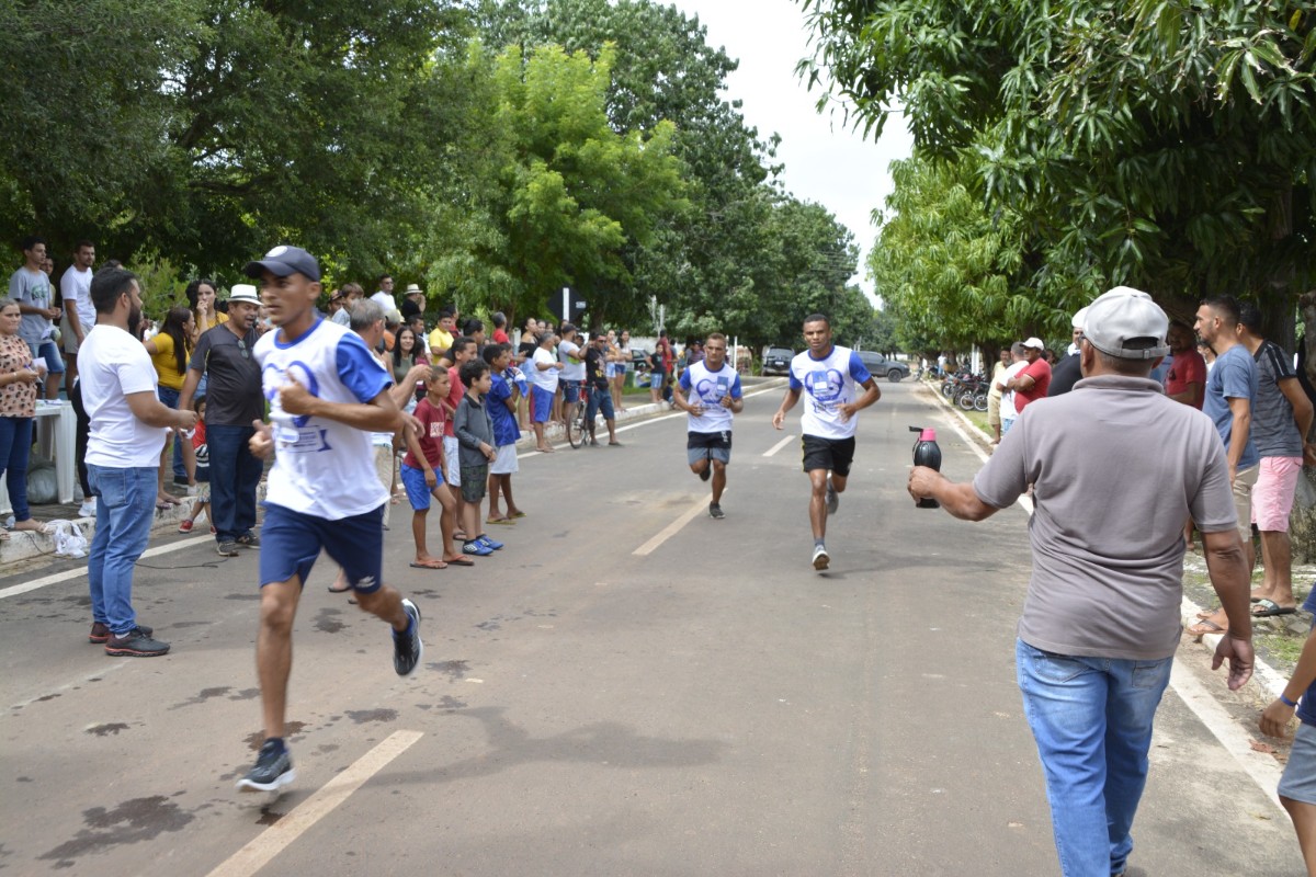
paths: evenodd
<path fill-rule="evenodd" d="M 87 477 L 96 496 L 96 535 L 87 559 L 92 619 L 122 636 L 137 626 L 133 565 L 151 535 L 159 468 L 114 469 L 89 463 Z"/>

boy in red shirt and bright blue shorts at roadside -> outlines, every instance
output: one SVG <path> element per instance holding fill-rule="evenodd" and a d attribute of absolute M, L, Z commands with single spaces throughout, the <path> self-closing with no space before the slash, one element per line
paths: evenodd
<path fill-rule="evenodd" d="M 412 415 L 420 422 L 420 434 L 408 423 L 404 429 L 407 456 L 403 458 L 400 477 L 412 505 L 412 538 L 416 540 L 416 569 L 443 569 L 447 564 L 474 567 L 475 563 L 461 554 L 453 544 L 453 508 L 457 501 L 447 489 L 443 472 L 443 426 L 447 423 L 447 369 L 436 368 L 425 381 L 425 398 L 416 404 Z M 442 559 L 429 554 L 425 546 L 425 518 L 429 514 L 430 498 L 438 500 L 442 513 L 438 515 L 440 531 L 443 536 Z"/>

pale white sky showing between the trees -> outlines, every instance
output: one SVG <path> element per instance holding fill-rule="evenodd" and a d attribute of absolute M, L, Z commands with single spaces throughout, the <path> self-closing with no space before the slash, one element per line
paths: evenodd
<path fill-rule="evenodd" d="M 804 12 L 792 0 L 672 0 L 687 16 L 697 16 L 708 29 L 705 41 L 740 60 L 726 82 L 728 100 L 742 100 L 745 121 L 758 128 L 759 139 L 782 135 L 776 160 L 786 166 L 786 189 L 801 201 L 830 210 L 854 233 L 859 246 L 855 283 L 873 298 L 865 260 L 878 230 L 874 209 L 891 193 L 887 171 L 895 159 L 908 158 L 913 141 L 899 117 L 892 117 L 878 142 L 865 141 L 844 126 L 840 114 L 819 114 L 819 91 L 809 92 L 795 76 L 795 63 L 811 55 Z"/>

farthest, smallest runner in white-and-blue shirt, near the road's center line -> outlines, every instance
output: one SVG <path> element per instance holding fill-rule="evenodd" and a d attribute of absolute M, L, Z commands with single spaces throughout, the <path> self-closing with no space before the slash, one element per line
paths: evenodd
<path fill-rule="evenodd" d="M 732 462 L 732 415 L 745 406 L 740 375 L 726 364 L 726 335 L 715 331 L 708 337 L 704 359 L 680 373 L 672 393 L 676 408 L 690 413 L 686 427 L 690 471 L 700 481 L 712 477 L 713 501 L 708 504 L 708 517 L 720 521 L 726 517 L 721 501 L 726 465 Z"/>

